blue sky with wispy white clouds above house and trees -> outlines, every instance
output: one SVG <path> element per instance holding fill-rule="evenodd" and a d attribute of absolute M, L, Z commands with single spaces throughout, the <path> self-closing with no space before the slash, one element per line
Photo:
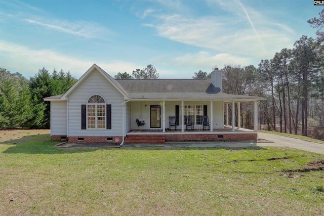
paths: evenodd
<path fill-rule="evenodd" d="M 233 64 L 258 67 L 302 35 L 312 0 L 1 0 L 0 68 L 27 79 L 43 67 L 111 76 L 151 64 L 159 78 L 192 78 Z"/>

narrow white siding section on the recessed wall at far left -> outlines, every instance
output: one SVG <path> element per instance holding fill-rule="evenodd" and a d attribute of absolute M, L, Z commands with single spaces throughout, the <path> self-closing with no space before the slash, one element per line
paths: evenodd
<path fill-rule="evenodd" d="M 51 101 L 51 135 L 67 135 L 66 101 Z"/>

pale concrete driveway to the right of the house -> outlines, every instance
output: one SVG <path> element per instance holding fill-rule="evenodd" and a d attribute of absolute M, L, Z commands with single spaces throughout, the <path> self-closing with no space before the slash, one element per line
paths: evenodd
<path fill-rule="evenodd" d="M 258 142 L 257 146 L 275 146 L 275 147 L 289 147 L 295 149 L 301 149 L 304 151 L 314 152 L 318 154 L 324 154 L 324 144 L 300 140 L 296 138 L 290 138 L 286 136 L 280 136 L 275 134 L 269 134 L 264 132 L 258 132 L 258 139 L 264 139 L 271 142 Z"/>

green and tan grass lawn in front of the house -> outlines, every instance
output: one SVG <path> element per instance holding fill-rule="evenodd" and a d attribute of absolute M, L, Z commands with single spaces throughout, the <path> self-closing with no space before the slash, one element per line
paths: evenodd
<path fill-rule="evenodd" d="M 323 155 L 286 148 L 94 150 L 55 144 L 0 144 L 0 215 L 324 214 L 324 193 L 318 191 L 324 171 L 301 171 L 324 166 L 307 164 Z"/>

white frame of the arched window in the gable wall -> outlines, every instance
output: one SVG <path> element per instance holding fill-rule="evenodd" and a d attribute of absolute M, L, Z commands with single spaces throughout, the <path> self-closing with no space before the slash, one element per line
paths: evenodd
<path fill-rule="evenodd" d="M 95 96 L 95 100 L 94 97 Z M 99 97 L 97 97 L 99 96 Z M 95 106 L 95 115 L 89 116 L 89 106 L 90 105 L 94 105 Z M 98 109 L 100 109 L 100 106 L 103 106 L 103 112 L 104 115 L 98 115 Z M 95 127 L 89 127 L 89 118 L 95 118 Z M 103 124 L 101 124 L 101 126 L 103 127 L 99 127 L 98 128 L 98 120 L 99 118 L 103 118 Z M 106 129 L 107 126 L 107 110 L 106 110 L 106 101 L 104 99 L 104 97 L 102 97 L 101 95 L 92 95 L 91 97 L 88 98 L 87 101 L 87 129 Z"/>

